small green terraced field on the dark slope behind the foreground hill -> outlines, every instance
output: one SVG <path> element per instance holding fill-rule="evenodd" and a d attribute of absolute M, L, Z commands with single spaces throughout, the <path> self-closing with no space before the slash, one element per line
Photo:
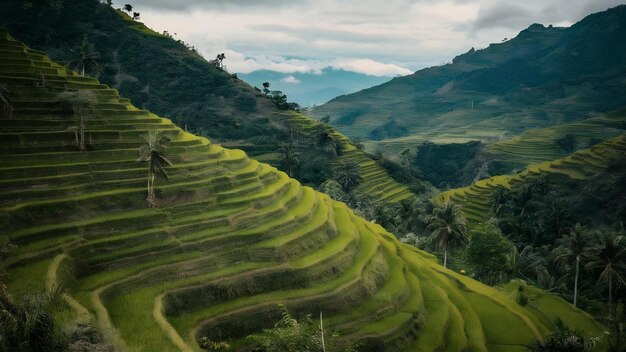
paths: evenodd
<path fill-rule="evenodd" d="M 291 114 L 290 121 L 293 128 L 308 133 L 317 122 L 300 114 Z M 352 145 L 348 137 L 332 130 L 335 140 L 341 146 L 341 155 L 337 157 L 334 164 L 344 160 L 354 160 L 359 164 L 363 180 L 356 187 L 356 191 L 369 196 L 374 201 L 394 203 L 403 199 L 415 196 L 406 186 L 396 182 L 389 176 L 376 161 L 369 158 L 363 151 Z"/>

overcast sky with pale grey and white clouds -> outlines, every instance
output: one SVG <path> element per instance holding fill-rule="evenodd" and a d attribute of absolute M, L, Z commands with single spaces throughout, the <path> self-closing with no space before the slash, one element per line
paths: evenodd
<path fill-rule="evenodd" d="M 116 0 L 141 21 L 226 53 L 230 72 L 344 69 L 405 75 L 532 23 L 569 26 L 626 0 Z M 294 82 L 296 83 L 296 82 Z"/>

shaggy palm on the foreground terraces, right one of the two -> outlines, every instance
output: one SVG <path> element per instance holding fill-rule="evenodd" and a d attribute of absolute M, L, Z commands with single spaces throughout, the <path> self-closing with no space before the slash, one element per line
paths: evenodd
<path fill-rule="evenodd" d="M 165 148 L 170 139 L 161 134 L 161 131 L 150 131 L 142 138 L 146 144 L 139 148 L 138 161 L 148 162 L 148 197 L 146 201 L 149 207 L 155 206 L 154 184 L 158 176 L 162 180 L 167 180 L 166 166 L 172 166 L 172 162 L 165 156 Z"/>

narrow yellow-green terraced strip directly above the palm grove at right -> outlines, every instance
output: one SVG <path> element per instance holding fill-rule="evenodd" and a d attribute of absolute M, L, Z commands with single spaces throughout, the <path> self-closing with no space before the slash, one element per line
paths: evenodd
<path fill-rule="evenodd" d="M 601 128 L 599 127 L 598 130 Z M 513 153 L 522 154 L 524 150 L 520 149 L 521 151 Z M 516 174 L 494 176 L 467 187 L 451 189 L 439 194 L 435 201 L 443 203 L 451 200 L 461 204 L 467 219 L 476 224 L 491 217 L 491 195 L 498 186 L 510 189 L 539 175 L 584 180 L 605 169 L 612 160 L 623 157 L 625 154 L 626 134 L 622 133 L 564 158 L 533 164 Z"/>

